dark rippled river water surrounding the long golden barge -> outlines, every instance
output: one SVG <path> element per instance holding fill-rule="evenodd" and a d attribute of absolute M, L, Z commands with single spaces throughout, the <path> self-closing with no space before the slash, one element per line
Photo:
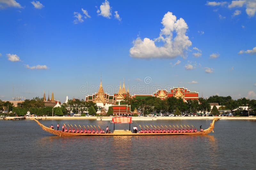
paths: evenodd
<path fill-rule="evenodd" d="M 202 125 L 212 120 L 133 121 L 133 125 Z M 109 121 L 42 120 L 95 125 L 113 131 Z M 129 129 L 116 124 L 115 129 Z M 106 129 L 105 129 L 106 130 Z M 0 120 L 1 169 L 255 169 L 256 121 L 219 120 L 205 136 L 58 137 L 33 120 Z"/>

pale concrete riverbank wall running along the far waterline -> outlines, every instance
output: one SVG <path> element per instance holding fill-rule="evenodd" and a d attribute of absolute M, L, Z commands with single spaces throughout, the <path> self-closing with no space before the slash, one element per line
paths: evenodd
<path fill-rule="evenodd" d="M 221 119 L 225 120 L 256 120 L 256 117 L 228 117 L 228 116 L 218 116 Z M 5 120 L 13 120 L 14 118 L 17 117 L 4 117 Z M 216 117 L 210 117 L 210 116 L 196 116 L 196 117 L 132 117 L 132 120 L 200 120 L 200 119 L 214 119 Z M 88 119 L 88 120 L 103 120 L 103 121 L 111 121 L 112 117 L 96 117 L 96 116 L 91 116 L 91 117 L 56 117 L 56 116 L 47 116 L 47 117 L 26 117 L 26 119 L 33 120 L 33 119 L 42 119 L 42 120 L 47 120 L 47 119 L 55 119 L 55 120 L 74 120 L 74 119 Z"/>

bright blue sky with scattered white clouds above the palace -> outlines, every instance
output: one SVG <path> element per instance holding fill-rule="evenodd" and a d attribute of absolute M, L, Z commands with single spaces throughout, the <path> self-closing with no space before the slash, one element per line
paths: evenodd
<path fill-rule="evenodd" d="M 0 100 L 185 87 L 256 99 L 256 0 L 0 0 Z"/>

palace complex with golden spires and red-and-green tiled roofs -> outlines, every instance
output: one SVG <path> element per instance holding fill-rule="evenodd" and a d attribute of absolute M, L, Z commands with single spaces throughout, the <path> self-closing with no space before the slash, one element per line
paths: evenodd
<path fill-rule="evenodd" d="M 129 89 L 125 88 L 124 82 L 123 82 L 123 87 L 121 87 L 121 82 L 119 86 L 118 93 L 115 93 L 114 95 L 110 95 L 108 93 L 105 93 L 102 87 L 102 81 L 100 80 L 100 88 L 97 93 L 92 94 L 92 95 L 87 95 L 85 97 L 85 101 L 87 102 L 93 102 L 96 103 L 97 106 L 99 107 L 99 111 L 97 113 L 100 114 L 106 114 L 108 111 L 109 107 L 112 107 L 113 113 L 115 115 L 132 115 L 137 113 L 138 111 L 135 109 L 134 111 L 131 111 L 131 106 L 130 105 L 124 105 L 120 104 L 122 101 L 124 101 L 125 98 L 137 98 L 137 99 L 145 99 L 147 97 L 158 97 L 161 98 L 162 100 L 167 99 L 168 97 L 176 97 L 176 98 L 182 98 L 184 102 L 187 102 L 187 100 L 198 100 L 198 92 L 190 92 L 187 88 L 170 88 L 169 91 L 168 89 L 161 89 L 157 90 L 156 93 L 152 95 L 136 95 L 134 94 L 133 96 L 130 94 Z"/>

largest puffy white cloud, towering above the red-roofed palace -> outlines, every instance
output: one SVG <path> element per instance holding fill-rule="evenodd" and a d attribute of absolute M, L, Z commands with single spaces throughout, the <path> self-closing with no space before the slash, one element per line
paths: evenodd
<path fill-rule="evenodd" d="M 158 38 L 151 40 L 139 37 L 133 41 L 133 47 L 130 49 L 130 56 L 136 58 L 175 58 L 186 57 L 188 47 L 192 45 L 186 31 L 188 25 L 183 18 L 176 20 L 172 12 L 167 12 L 162 19 L 163 29 L 161 29 Z M 173 37 L 173 33 L 176 36 Z M 155 42 L 163 42 L 163 46 L 156 46 Z"/>

